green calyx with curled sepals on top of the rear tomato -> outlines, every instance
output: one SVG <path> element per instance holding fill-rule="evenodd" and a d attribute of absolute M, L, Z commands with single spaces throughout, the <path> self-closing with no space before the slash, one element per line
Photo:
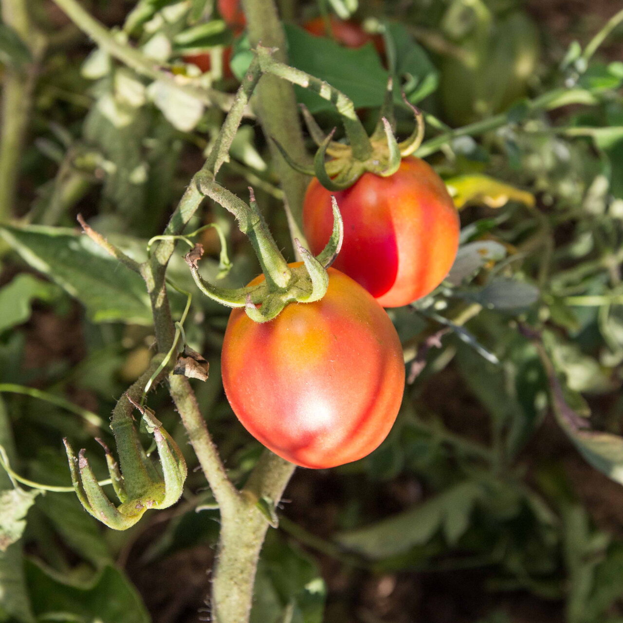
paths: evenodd
<path fill-rule="evenodd" d="M 393 86 L 389 79 L 385 102 L 381 108 L 378 123 L 371 136 L 353 135 L 346 127 L 350 145 L 333 140 L 336 128 L 325 136 L 311 113 L 301 105 L 303 120 L 307 125 L 318 150 L 313 159 L 313 168 L 303 166 L 294 161 L 287 151 L 273 139 L 278 150 L 287 163 L 300 173 L 313 175 L 330 191 L 341 191 L 350 188 L 367 172 L 381 177 L 389 177 L 396 173 L 402 158 L 410 156 L 421 145 L 424 138 L 424 118 L 422 113 L 407 100 L 404 93 L 403 100 L 411 108 L 416 120 L 416 126 L 411 135 L 404 141 L 397 141 L 392 101 Z M 362 145 L 361 143 L 367 143 Z M 328 159 L 327 159 L 328 158 Z"/>

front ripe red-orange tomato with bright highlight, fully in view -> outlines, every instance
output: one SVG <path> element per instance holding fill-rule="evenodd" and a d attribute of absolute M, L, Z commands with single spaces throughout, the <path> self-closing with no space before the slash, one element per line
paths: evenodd
<path fill-rule="evenodd" d="M 376 449 L 404 391 L 389 316 L 350 277 L 328 272 L 320 301 L 290 303 L 267 323 L 232 311 L 222 351 L 223 386 L 242 426 L 283 459 L 317 469 Z"/>

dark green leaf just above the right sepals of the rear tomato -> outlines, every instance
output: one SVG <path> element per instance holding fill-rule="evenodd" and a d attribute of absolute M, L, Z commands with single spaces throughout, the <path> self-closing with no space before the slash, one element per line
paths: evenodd
<path fill-rule="evenodd" d="M 439 72 L 405 26 L 397 22 L 385 24 L 385 47 L 388 57 L 392 59 L 389 65 L 394 67 L 394 75 L 398 78 L 394 88 L 396 102 L 402 102 L 402 78 L 406 78 L 402 90 L 412 104 L 417 104 L 437 89 Z"/>

